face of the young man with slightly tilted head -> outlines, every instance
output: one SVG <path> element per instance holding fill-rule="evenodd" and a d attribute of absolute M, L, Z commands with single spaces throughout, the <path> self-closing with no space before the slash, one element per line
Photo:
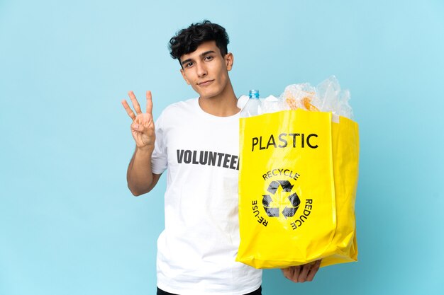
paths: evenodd
<path fill-rule="evenodd" d="M 202 43 L 194 52 L 182 55 L 180 62 L 182 76 L 201 98 L 223 95 L 226 91 L 233 54 L 228 53 L 222 57 L 215 41 Z"/>

